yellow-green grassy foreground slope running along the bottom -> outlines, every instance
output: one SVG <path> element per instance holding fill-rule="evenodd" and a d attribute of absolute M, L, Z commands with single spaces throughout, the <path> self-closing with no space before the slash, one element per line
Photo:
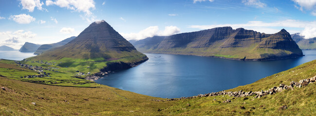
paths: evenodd
<path fill-rule="evenodd" d="M 15 65 L 7 66 L 8 69 L 19 69 Z M 226 91 L 267 90 L 281 83 L 289 85 L 291 81 L 299 81 L 315 75 L 316 60 L 260 79 L 253 84 Z M 165 99 L 104 85 L 99 85 L 97 88 L 57 87 L 21 82 L 1 76 L 0 87 L 6 88 L 6 90 L 0 89 L 0 114 L 5 116 L 309 116 L 316 114 L 316 83 L 257 99 L 254 99 L 255 96 L 240 98 L 216 96 L 164 102 L 150 100 Z M 227 99 L 231 102 L 223 103 Z M 37 105 L 31 102 L 36 102 Z"/>

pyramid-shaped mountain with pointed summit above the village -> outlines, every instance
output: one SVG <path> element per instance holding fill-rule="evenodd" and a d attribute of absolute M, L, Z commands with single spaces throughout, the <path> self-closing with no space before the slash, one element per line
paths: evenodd
<path fill-rule="evenodd" d="M 104 20 L 93 22 L 69 43 L 45 51 L 36 59 L 59 60 L 61 58 L 116 60 L 121 58 L 140 57 L 147 60 L 146 55 L 124 39 Z M 138 61 L 139 61 L 138 60 Z"/>

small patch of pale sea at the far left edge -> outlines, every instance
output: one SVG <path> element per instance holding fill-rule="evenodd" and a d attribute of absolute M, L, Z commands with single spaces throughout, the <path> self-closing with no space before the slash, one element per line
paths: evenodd
<path fill-rule="evenodd" d="M 34 53 L 23 53 L 15 51 L 0 51 L 0 59 L 23 60 L 24 58 L 34 57 Z"/>

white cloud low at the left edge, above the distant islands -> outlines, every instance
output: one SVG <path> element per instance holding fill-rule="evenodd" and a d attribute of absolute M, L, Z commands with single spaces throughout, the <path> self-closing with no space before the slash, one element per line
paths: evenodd
<path fill-rule="evenodd" d="M 37 34 L 31 31 L 17 30 L 15 32 L 0 32 L 0 46 L 7 45 L 19 49 L 25 42 L 34 42 Z"/>

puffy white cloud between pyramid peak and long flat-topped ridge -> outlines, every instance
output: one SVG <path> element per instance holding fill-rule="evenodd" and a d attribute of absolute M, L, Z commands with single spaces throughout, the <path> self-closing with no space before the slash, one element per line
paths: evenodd
<path fill-rule="evenodd" d="M 168 36 L 172 34 L 179 33 L 180 29 L 175 26 L 167 26 L 165 30 L 159 31 L 158 26 L 150 26 L 138 33 L 120 33 L 127 40 L 141 40 L 148 37 L 158 36 Z"/>

